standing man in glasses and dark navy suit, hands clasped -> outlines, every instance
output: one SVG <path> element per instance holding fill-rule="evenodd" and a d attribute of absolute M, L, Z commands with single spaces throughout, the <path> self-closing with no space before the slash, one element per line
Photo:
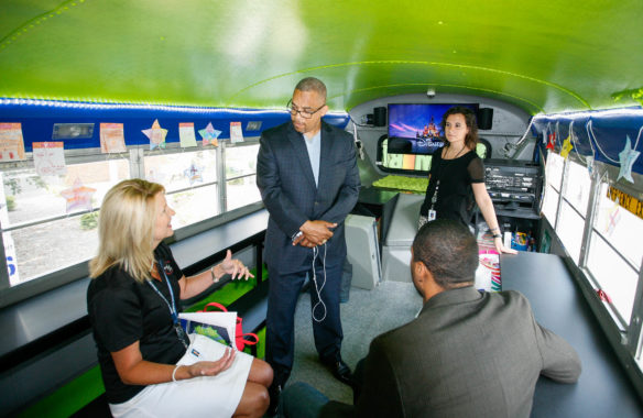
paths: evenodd
<path fill-rule="evenodd" d="M 294 312 L 306 276 L 319 359 L 340 381 L 351 378 L 340 354 L 339 289 L 344 220 L 360 187 L 353 140 L 322 121 L 328 111 L 326 86 L 316 78 L 297 84 L 288 109 L 291 122 L 262 133 L 257 158 L 257 185 L 270 212 L 265 359 L 275 375 L 273 399 L 293 365 Z"/>

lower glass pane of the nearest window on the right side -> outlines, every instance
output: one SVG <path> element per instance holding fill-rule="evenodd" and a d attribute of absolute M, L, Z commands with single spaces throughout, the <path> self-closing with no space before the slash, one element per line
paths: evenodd
<path fill-rule="evenodd" d="M 629 324 L 636 294 L 639 272 L 608 245 L 598 234 L 592 234 L 587 268 L 598 286 L 604 290 L 625 324 Z"/>

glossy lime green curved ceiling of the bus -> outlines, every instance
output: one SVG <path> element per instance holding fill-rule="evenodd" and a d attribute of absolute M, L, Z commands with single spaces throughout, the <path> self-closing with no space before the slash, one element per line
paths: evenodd
<path fill-rule="evenodd" d="M 425 92 L 528 113 L 640 106 L 642 0 L 2 0 L 0 97 L 335 110 Z"/>

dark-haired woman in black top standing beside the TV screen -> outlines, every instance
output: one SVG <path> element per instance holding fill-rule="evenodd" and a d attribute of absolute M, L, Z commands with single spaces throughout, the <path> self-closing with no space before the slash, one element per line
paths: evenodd
<path fill-rule="evenodd" d="M 484 186 L 484 166 L 476 154 L 476 114 L 468 108 L 453 107 L 443 116 L 442 128 L 445 146 L 433 155 L 418 227 L 437 218 L 458 220 L 468 227 L 478 204 L 498 252 L 515 254 L 502 244 L 493 202 Z"/>

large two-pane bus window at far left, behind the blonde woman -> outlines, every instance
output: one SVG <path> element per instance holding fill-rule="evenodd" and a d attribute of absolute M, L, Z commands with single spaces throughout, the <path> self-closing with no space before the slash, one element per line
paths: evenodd
<path fill-rule="evenodd" d="M 96 255 L 105 194 L 129 178 L 128 160 L 68 164 L 61 176 L 4 170 L 2 239 L 12 286 Z"/>

